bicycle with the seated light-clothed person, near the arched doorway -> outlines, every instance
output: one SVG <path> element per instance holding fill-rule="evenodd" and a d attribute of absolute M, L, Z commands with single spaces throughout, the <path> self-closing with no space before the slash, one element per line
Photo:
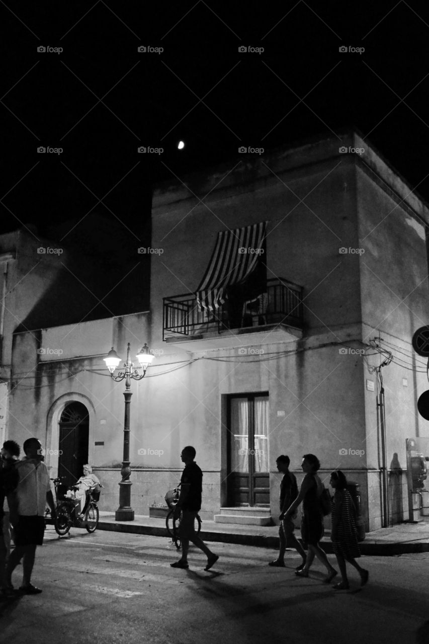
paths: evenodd
<path fill-rule="evenodd" d="M 86 491 L 86 500 L 82 514 L 77 515 L 75 499 L 65 496 L 68 489 L 67 486 L 61 483 L 61 478 L 52 478 L 51 480 L 55 486 L 55 496 L 57 497 L 57 518 L 54 522 L 57 535 L 65 536 L 72 526 L 84 527 L 90 534 L 95 532 L 99 525 L 99 508 L 97 502 L 100 498 L 100 488 L 103 488 L 103 486 L 97 484 L 95 488 Z M 77 489 L 77 487 L 72 486 L 72 489 Z"/>

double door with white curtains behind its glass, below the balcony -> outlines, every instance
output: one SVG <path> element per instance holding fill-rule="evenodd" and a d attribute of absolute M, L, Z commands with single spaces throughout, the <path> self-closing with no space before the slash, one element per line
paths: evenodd
<path fill-rule="evenodd" d="M 270 503 L 267 394 L 228 398 L 228 505 L 265 507 Z"/>

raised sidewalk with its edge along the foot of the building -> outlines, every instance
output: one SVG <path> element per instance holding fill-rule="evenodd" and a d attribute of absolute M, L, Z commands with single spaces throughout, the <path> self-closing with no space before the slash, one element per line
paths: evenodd
<path fill-rule="evenodd" d="M 99 530 L 131 533 L 134 535 L 169 536 L 163 518 L 135 516 L 134 521 L 115 521 L 115 515 L 100 512 Z M 225 544 L 256 545 L 265 548 L 278 548 L 278 526 L 242 526 L 218 524 L 203 521 L 200 536 L 204 541 L 218 541 Z M 323 549 L 332 553 L 332 543 L 327 531 L 321 544 Z M 362 554 L 393 556 L 406 553 L 429 552 L 429 521 L 418 524 L 398 524 L 367 533 L 361 542 Z"/>

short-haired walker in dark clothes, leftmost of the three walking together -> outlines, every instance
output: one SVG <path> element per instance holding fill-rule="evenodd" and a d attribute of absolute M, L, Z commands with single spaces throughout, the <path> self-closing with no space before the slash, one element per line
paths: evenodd
<path fill-rule="evenodd" d="M 285 456 L 283 454 L 276 460 L 278 471 L 283 473 L 283 478 L 281 479 L 280 483 L 280 526 L 278 529 L 278 535 L 280 536 L 280 551 L 278 553 L 278 558 L 274 559 L 274 561 L 270 562 L 268 565 L 280 568 L 285 567 L 285 551 L 287 545 L 290 545 L 296 548 L 296 550 L 302 557 L 302 563 L 296 568 L 296 570 L 300 571 L 305 566 L 305 562 L 307 561 L 307 554 L 305 554 L 305 550 L 294 535 L 295 526 L 292 522 L 292 517 L 288 516 L 287 518 L 285 518 L 284 516 L 285 511 L 289 506 L 291 506 L 296 497 L 298 497 L 298 485 L 296 484 L 296 477 L 294 474 L 292 474 L 292 472 L 289 471 L 290 462 L 291 459 L 289 459 L 289 456 Z"/>

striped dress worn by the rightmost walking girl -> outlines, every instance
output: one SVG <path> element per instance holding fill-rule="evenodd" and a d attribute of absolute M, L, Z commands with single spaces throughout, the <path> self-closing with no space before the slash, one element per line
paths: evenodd
<path fill-rule="evenodd" d="M 345 559 L 360 557 L 354 521 L 354 504 L 347 489 L 335 491 L 332 499 L 332 522 L 334 520 L 337 520 L 336 540 L 332 540 L 334 553 Z"/>

